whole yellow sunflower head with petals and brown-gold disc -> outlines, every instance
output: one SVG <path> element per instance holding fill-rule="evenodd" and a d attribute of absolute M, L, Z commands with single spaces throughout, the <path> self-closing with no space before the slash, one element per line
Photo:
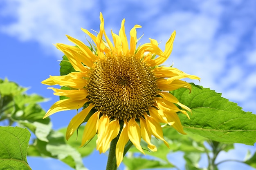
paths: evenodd
<path fill-rule="evenodd" d="M 106 35 L 101 13 L 100 21 L 97 36 L 82 28 L 92 38 L 94 49 L 68 35 L 68 40 L 76 46 L 56 44 L 76 72 L 65 76 L 50 76 L 42 81 L 45 85 L 70 87 L 70 90 L 49 87 L 54 95 L 67 98 L 54 103 L 44 118 L 56 112 L 84 108 L 70 121 L 66 139 L 87 119 L 81 146 L 97 134 L 97 150 L 104 153 L 110 148 L 110 142 L 118 138 L 116 159 L 119 166 L 129 140 L 142 153 L 141 138 L 148 144 L 148 149 L 157 151 L 156 146 L 150 142 L 152 135 L 169 147 L 160 123 L 171 125 L 185 134 L 177 112 L 189 118 L 186 111 L 191 110 L 168 91 L 182 87 L 191 90 L 191 85 L 180 79 L 200 78 L 174 67 L 159 66 L 171 54 L 175 31 L 166 42 L 164 51 L 154 39 L 136 48 L 136 29 L 141 28 L 140 25 L 130 30 L 129 44 L 123 20 L 119 35 L 111 31 L 112 43 Z"/>

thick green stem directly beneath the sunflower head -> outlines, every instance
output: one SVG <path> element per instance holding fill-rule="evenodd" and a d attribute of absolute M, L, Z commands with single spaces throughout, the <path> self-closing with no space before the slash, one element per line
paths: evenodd
<path fill-rule="evenodd" d="M 106 170 L 117 170 L 117 160 L 116 160 L 116 145 L 118 138 L 116 137 L 110 143 L 110 148 L 108 152 L 108 163 Z"/>

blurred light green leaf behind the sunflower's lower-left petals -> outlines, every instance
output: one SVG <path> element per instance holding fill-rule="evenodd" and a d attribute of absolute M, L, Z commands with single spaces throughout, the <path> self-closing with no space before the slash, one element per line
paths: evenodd
<path fill-rule="evenodd" d="M 58 131 L 61 132 L 63 135 L 66 135 L 66 130 L 67 128 L 61 128 Z M 76 134 L 73 134 L 70 137 L 70 139 L 68 139 L 67 144 L 69 144 L 73 148 L 76 148 L 76 150 L 81 154 L 82 157 L 86 157 L 95 150 L 97 135 L 95 135 L 94 138 L 87 143 L 87 145 L 80 148 L 82 136 L 83 136 L 83 130 L 84 130 L 84 126 L 80 126 L 78 129 L 78 136 L 76 136 Z"/>

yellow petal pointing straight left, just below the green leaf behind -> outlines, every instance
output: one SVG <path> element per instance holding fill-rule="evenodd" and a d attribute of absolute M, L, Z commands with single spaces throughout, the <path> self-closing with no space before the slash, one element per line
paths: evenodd
<path fill-rule="evenodd" d="M 84 76 L 85 74 L 81 72 L 71 72 L 65 76 L 50 76 L 41 83 L 45 85 L 70 86 L 75 89 L 81 89 L 87 84 Z"/>

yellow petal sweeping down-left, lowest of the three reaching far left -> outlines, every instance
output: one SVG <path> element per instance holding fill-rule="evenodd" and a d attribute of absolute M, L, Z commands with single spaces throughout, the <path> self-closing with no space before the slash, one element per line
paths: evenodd
<path fill-rule="evenodd" d="M 77 100 L 70 99 L 70 98 L 67 98 L 67 99 L 64 99 L 61 101 L 57 101 L 49 108 L 49 110 L 46 112 L 43 119 L 45 119 L 46 117 L 48 117 L 56 112 L 79 109 L 88 101 L 89 101 L 88 99 L 83 99 L 83 100 L 77 101 Z"/>

